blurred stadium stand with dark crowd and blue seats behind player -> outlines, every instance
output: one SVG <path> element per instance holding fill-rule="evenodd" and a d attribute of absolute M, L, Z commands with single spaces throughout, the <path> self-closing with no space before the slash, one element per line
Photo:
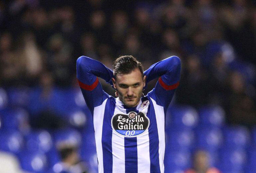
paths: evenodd
<path fill-rule="evenodd" d="M 111 69 L 120 55 L 145 69 L 180 57 L 165 172 L 256 172 L 255 1 L 1 0 L 1 173 L 97 172 L 92 117 L 76 79 L 82 55 Z"/>

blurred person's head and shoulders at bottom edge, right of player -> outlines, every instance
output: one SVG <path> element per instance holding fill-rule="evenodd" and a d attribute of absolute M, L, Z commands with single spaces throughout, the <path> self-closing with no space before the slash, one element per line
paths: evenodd
<path fill-rule="evenodd" d="M 210 166 L 210 158 L 206 151 L 197 150 L 193 156 L 193 167 L 185 173 L 220 173 L 220 171 Z"/>

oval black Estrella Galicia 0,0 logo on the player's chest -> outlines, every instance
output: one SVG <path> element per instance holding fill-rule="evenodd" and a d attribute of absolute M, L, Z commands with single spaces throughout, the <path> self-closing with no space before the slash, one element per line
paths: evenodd
<path fill-rule="evenodd" d="M 149 127 L 149 118 L 143 113 L 129 112 L 115 114 L 111 119 L 112 128 L 125 137 L 135 137 L 145 132 Z"/>

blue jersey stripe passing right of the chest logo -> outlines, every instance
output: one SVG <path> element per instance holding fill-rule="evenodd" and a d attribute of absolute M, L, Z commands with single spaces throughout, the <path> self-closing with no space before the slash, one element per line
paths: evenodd
<path fill-rule="evenodd" d="M 159 165 L 159 137 L 158 137 L 158 130 L 157 130 L 157 120 L 156 120 L 156 113 L 154 109 L 154 105 L 150 101 L 150 107 L 147 112 L 147 116 L 150 116 L 150 125 L 148 128 L 149 131 L 149 155 L 150 155 L 150 172 L 160 172 L 160 165 Z M 150 115 L 148 115 L 150 112 Z"/>

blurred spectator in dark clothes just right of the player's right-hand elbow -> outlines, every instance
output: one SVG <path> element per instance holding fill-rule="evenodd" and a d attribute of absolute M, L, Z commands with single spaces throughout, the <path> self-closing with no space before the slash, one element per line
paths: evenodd
<path fill-rule="evenodd" d="M 177 103 L 199 108 L 210 102 L 213 85 L 210 74 L 202 68 L 197 56 L 192 55 L 183 63 L 184 71 L 177 89 Z"/>

